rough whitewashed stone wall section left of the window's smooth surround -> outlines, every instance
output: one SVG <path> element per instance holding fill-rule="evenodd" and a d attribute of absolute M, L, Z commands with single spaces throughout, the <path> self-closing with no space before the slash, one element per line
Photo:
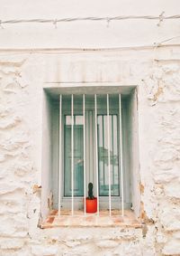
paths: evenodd
<path fill-rule="evenodd" d="M 26 255 L 29 230 L 27 209 L 33 160 L 29 127 L 22 111 L 28 95 L 26 83 L 21 81 L 23 63 L 0 62 L 1 255 Z"/>

